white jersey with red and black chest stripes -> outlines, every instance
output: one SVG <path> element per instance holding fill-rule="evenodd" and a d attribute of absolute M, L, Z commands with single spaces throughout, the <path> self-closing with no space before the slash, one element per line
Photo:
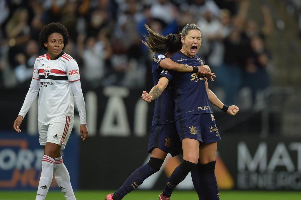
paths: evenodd
<path fill-rule="evenodd" d="M 46 125 L 65 116 L 74 118 L 73 91 L 70 85 L 71 82 L 80 80 L 80 76 L 77 62 L 71 56 L 62 52 L 54 60 L 49 59 L 48 54 L 37 57 L 34 64 L 33 79 L 39 80 L 40 84 L 38 103 L 38 120 L 40 123 Z M 82 95 L 81 89 L 79 93 Z M 76 103 L 78 104 L 78 102 Z M 28 111 L 25 102 L 23 107 L 20 112 L 23 114 L 21 114 L 22 116 Z M 84 107 L 83 102 L 82 116 L 84 115 L 84 117 L 81 117 L 81 124 L 83 120 L 85 121 Z"/>

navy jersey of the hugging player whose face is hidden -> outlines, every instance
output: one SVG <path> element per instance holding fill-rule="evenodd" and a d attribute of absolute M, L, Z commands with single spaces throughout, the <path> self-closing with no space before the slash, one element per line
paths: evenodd
<path fill-rule="evenodd" d="M 152 71 L 154 78 L 154 85 L 158 84 L 160 74 L 164 70 L 160 67 L 160 62 L 166 59 L 161 53 L 157 53 L 153 57 Z M 166 71 L 167 73 L 167 71 Z M 167 86 L 162 92 L 162 95 L 155 99 L 155 111 L 152 123 L 154 124 L 172 124 L 174 122 L 174 103 L 171 89 Z"/>

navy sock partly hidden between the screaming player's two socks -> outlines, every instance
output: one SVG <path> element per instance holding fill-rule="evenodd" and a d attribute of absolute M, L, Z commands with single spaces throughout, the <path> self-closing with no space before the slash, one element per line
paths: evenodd
<path fill-rule="evenodd" d="M 199 197 L 199 200 L 206 200 L 205 194 L 206 190 L 204 185 L 201 184 L 200 173 L 201 173 L 201 164 L 200 161 L 197 163 L 197 167 L 191 170 L 191 179 L 194 186 L 195 191 Z"/>

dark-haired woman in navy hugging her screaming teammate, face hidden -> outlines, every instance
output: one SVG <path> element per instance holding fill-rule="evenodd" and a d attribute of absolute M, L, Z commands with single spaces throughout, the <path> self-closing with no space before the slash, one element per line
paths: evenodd
<path fill-rule="evenodd" d="M 208 66 L 191 67 L 173 62 L 169 57 L 181 49 L 182 43 L 179 34 L 169 34 L 166 37 L 153 32 L 145 25 L 149 37 L 142 41 L 151 53 L 154 53 L 152 71 L 154 85 L 157 85 L 159 76 L 164 70 L 174 70 L 182 73 L 199 73 L 214 76 Z M 212 77 L 211 77 L 212 78 Z M 143 92 L 147 94 L 147 92 Z M 174 104 L 170 89 L 165 89 L 160 98 L 156 99 L 155 111 L 152 121 L 151 135 L 148 144 L 148 153 L 151 153 L 149 162 L 136 169 L 123 185 L 112 194 L 108 194 L 106 200 L 120 200 L 127 193 L 136 189 L 143 181 L 160 170 L 167 153 L 172 156 L 179 154 L 180 141 L 174 124 Z"/>

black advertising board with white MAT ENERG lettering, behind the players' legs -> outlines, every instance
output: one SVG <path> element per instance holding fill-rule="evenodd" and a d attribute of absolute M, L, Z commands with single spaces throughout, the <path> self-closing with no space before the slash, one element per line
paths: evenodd
<path fill-rule="evenodd" d="M 139 166 L 147 162 L 147 138 L 95 137 L 82 145 L 80 188 L 117 189 Z M 159 175 L 147 179 L 143 189 L 162 189 L 174 165 L 168 157 Z M 300 190 L 301 140 L 222 135 L 216 156 L 220 189 Z M 190 177 L 186 186 L 193 189 Z"/>

